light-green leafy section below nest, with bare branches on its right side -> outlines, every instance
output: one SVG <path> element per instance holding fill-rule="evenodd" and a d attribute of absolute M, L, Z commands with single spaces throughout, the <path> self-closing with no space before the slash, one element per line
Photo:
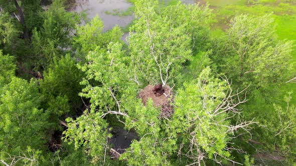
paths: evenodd
<path fill-rule="evenodd" d="M 237 130 L 247 131 L 256 122 L 238 120 L 231 125 L 231 118 L 241 113 L 237 105 L 246 101 L 232 102 L 236 97 L 226 79 L 215 78 L 206 68 L 178 90 L 172 117 L 160 119 L 152 102 L 146 108 L 130 106 L 126 127 L 134 127 L 141 138 L 133 141 L 122 159 L 132 165 L 237 163 L 230 159 L 228 142 Z"/>

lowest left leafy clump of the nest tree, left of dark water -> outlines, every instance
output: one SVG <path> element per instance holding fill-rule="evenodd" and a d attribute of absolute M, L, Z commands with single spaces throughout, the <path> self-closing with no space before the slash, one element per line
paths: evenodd
<path fill-rule="evenodd" d="M 105 148 L 108 148 L 108 123 L 101 118 L 99 112 L 87 112 L 76 120 L 66 119 L 68 129 L 64 132 L 64 139 L 74 143 L 75 149 L 83 147 L 89 155 L 93 156 L 94 162 L 105 160 Z"/>

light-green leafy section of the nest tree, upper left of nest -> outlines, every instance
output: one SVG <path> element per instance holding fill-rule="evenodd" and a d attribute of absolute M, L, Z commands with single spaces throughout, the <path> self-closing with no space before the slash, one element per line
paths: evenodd
<path fill-rule="evenodd" d="M 89 64 L 79 66 L 86 73 L 81 81 L 85 88 L 80 95 L 90 98 L 91 108 L 113 109 L 116 107 L 114 99 L 121 98 L 130 89 L 127 70 L 130 59 L 121 49 L 120 43 L 110 43 L 107 51 L 98 47 L 94 52 L 89 52 Z"/>

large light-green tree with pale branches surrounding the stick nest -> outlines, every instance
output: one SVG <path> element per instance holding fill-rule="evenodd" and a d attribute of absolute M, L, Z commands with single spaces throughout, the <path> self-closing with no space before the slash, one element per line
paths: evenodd
<path fill-rule="evenodd" d="M 135 30 L 129 38 L 131 56 L 122 50 L 122 44 L 110 42 L 107 50 L 98 46 L 90 51 L 88 63 L 79 66 L 86 74 L 81 82 L 85 85 L 81 95 L 90 98 L 91 105 L 80 117 L 67 119 L 64 139 L 76 149 L 83 147 L 92 161 L 109 162 L 107 152 L 112 144 L 108 140 L 112 123 L 117 119 L 139 135 L 120 157 L 127 164 L 226 163 L 231 159 L 233 148 L 228 143 L 233 135 L 239 129 L 249 130 L 249 124 L 253 123 L 241 119 L 236 124 L 230 123 L 240 113 L 237 105 L 245 99 L 236 98 L 226 78 L 215 77 L 207 67 L 196 79 L 178 89 L 171 103 L 175 112 L 165 118 L 152 100 L 144 105 L 136 97 L 139 88 L 147 83 L 161 80 L 166 84 L 175 79 L 182 62 L 191 56 L 192 41 L 189 37 L 192 33 L 184 27 L 182 18 L 174 17 L 171 12 L 166 12 L 167 16 L 157 13 L 155 1 L 141 2 L 145 7 L 138 3 L 137 13 L 149 15 L 138 15 L 131 28 Z M 165 11 L 173 8 L 170 6 Z M 204 11 L 198 6 L 193 8 L 196 11 L 183 9 L 193 15 Z M 189 19 L 191 14 L 184 14 L 184 19 Z"/>

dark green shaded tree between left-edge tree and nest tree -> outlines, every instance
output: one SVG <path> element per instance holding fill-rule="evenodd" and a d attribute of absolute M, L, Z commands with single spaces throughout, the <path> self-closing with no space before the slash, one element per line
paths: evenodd
<path fill-rule="evenodd" d="M 60 110 L 64 110 L 64 113 L 69 111 L 69 107 L 79 107 L 81 98 L 78 93 L 82 89 L 79 82 L 83 75 L 83 72 L 77 68 L 75 60 L 70 55 L 67 54 L 60 59 L 54 57 L 53 62 L 49 64 L 48 69 L 44 72 L 44 80 L 40 82 L 41 93 L 47 98 L 45 101 L 52 104 L 51 98 L 62 97 L 64 104 L 69 105 L 67 106 L 68 109 Z M 70 103 L 68 103 L 68 100 Z M 61 115 L 61 113 L 58 114 Z"/>

